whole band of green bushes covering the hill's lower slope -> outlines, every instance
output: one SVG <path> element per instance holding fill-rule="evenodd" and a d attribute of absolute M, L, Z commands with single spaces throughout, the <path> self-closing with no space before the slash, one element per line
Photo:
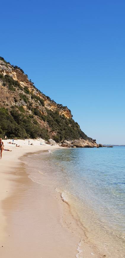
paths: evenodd
<path fill-rule="evenodd" d="M 45 140 L 50 138 L 50 132 L 56 133 L 52 138 L 60 142 L 64 139 L 86 139 L 87 136 L 81 131 L 79 125 L 72 119 L 66 118 L 64 115 L 60 116 L 59 113 L 47 110 L 47 116 L 42 116 L 39 110 L 36 109 L 41 120 L 46 121 L 51 129 L 48 131 L 45 128 L 41 128 L 40 124 L 34 118 L 33 115 L 25 114 L 25 109 L 13 106 L 11 111 L 8 109 L 0 108 L 0 137 L 4 138 L 7 135 L 8 138 L 37 138 L 41 137 Z"/>

